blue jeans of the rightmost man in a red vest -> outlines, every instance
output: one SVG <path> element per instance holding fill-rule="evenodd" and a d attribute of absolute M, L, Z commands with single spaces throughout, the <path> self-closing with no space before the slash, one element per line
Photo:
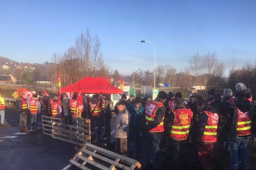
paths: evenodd
<path fill-rule="evenodd" d="M 239 169 L 239 157 L 241 158 L 241 167 L 242 170 L 249 170 L 248 164 L 248 142 L 250 136 L 247 137 L 239 137 L 236 136 L 236 139 L 232 142 L 229 142 L 230 146 L 230 167 L 232 170 Z"/>

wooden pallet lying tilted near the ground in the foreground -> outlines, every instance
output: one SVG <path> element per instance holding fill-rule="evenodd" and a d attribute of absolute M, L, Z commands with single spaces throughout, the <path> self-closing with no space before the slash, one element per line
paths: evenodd
<path fill-rule="evenodd" d="M 99 168 L 102 170 L 134 170 L 141 168 L 139 161 L 90 143 L 85 143 L 84 147 L 70 159 L 70 163 L 81 170 L 91 170 L 90 168 Z"/>

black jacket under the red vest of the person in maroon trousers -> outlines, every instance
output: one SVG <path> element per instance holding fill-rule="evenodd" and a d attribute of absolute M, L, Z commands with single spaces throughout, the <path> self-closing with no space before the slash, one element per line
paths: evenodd
<path fill-rule="evenodd" d="M 203 111 L 201 111 L 200 115 L 199 115 L 199 121 L 198 121 L 198 131 L 196 134 L 196 139 L 197 139 L 197 144 L 198 146 L 201 143 L 202 140 L 202 136 L 204 134 L 204 130 L 205 130 L 205 126 L 207 125 L 207 121 L 209 116 L 204 112 L 204 111 L 209 111 L 212 113 L 216 113 L 216 110 L 213 106 L 206 106 Z M 218 132 L 217 132 L 217 136 L 218 136 Z"/>

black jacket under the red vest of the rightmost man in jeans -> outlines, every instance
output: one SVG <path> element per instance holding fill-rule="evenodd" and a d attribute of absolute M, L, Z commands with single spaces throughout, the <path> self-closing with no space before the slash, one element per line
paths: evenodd
<path fill-rule="evenodd" d="M 239 108 L 242 112 L 248 112 L 248 115 L 253 117 L 253 103 L 250 102 L 247 99 L 239 99 L 236 100 L 232 106 L 230 106 L 229 114 L 227 115 L 227 123 L 225 131 L 229 134 L 230 141 L 233 141 L 236 138 L 236 127 L 237 127 L 237 119 L 238 119 L 238 113 L 237 108 Z M 254 127 L 255 121 L 252 121 L 252 126 Z M 254 129 L 252 129 L 252 132 L 254 132 Z M 246 135 L 250 136 L 250 135 Z M 244 137 L 246 137 L 244 136 Z M 241 136 L 240 136 L 241 137 Z"/>

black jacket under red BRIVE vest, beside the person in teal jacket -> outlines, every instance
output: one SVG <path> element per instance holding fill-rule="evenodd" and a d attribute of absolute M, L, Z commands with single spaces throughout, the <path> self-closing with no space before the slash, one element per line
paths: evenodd
<path fill-rule="evenodd" d="M 163 103 L 163 99 L 160 99 L 159 97 L 157 97 L 155 100 L 153 100 L 153 102 Z M 157 108 L 157 111 L 155 113 L 156 116 L 155 116 L 154 120 L 152 122 L 150 122 L 148 125 L 146 125 L 145 109 L 144 109 L 143 114 L 142 114 L 142 119 L 141 119 L 143 129 L 148 131 L 154 127 L 157 127 L 163 120 L 165 112 L 166 112 L 166 108 L 164 106 Z"/>

